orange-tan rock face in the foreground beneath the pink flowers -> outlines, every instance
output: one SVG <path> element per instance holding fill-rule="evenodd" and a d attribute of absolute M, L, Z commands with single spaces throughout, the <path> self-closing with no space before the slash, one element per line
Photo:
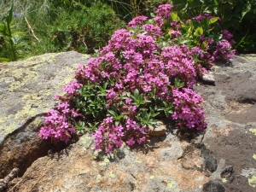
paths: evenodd
<path fill-rule="evenodd" d="M 183 169 L 178 158 L 162 157 L 168 146 L 188 143 L 180 143 L 171 134 L 166 140 L 169 142 L 151 143 L 150 148 L 135 150 L 124 145 L 122 158 L 102 156 L 102 160 L 94 160 L 92 138 L 84 135 L 61 152 L 36 160 L 15 190 L 199 192 L 208 177 L 197 170 Z M 178 157 L 181 151 L 169 152 Z"/>

